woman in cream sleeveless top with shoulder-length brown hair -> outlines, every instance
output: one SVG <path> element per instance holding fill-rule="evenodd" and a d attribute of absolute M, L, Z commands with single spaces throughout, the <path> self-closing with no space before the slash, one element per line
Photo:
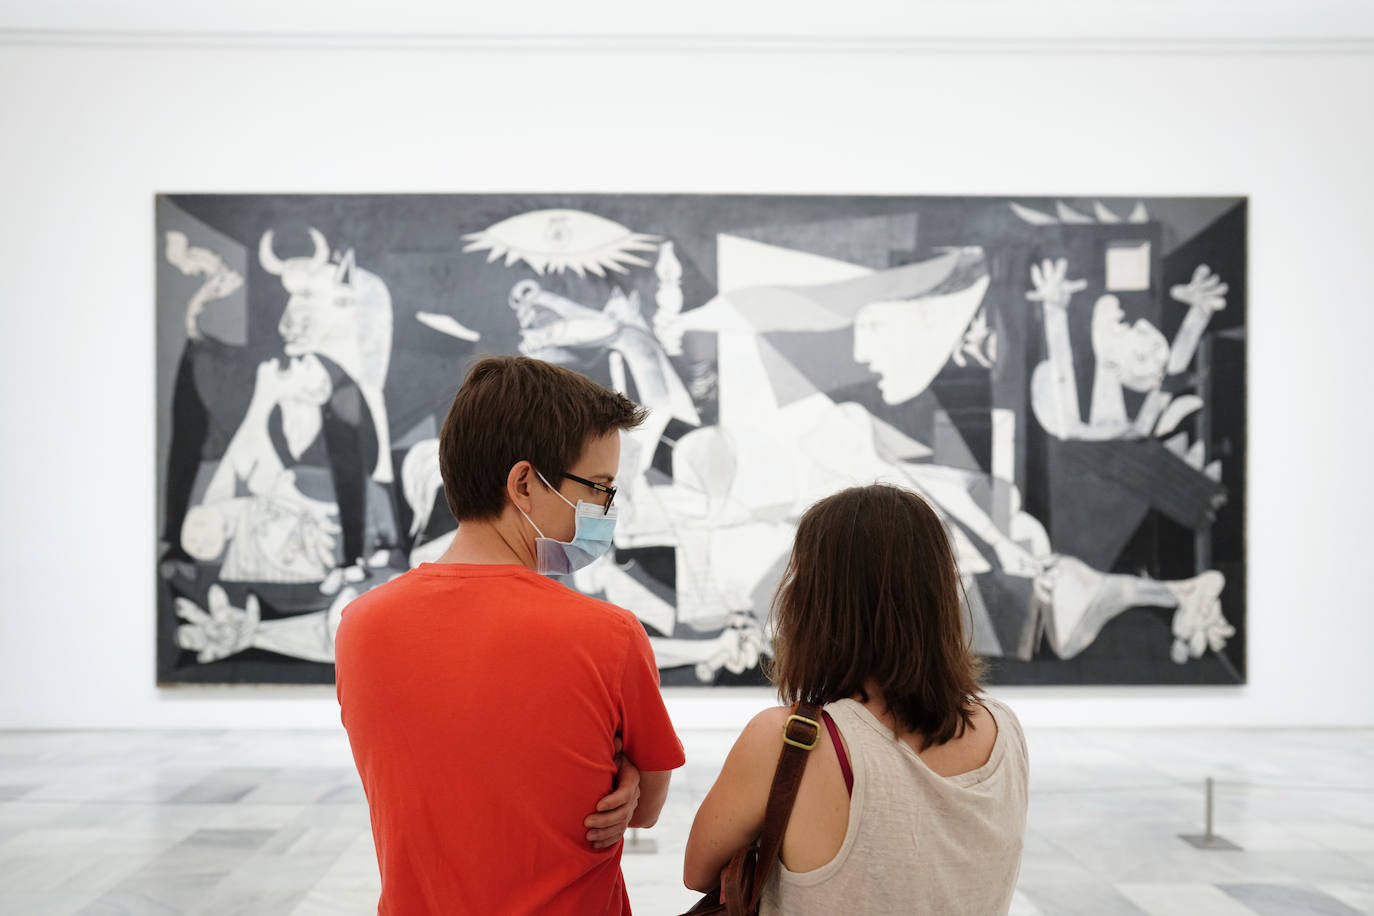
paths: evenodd
<path fill-rule="evenodd" d="M 842 490 L 801 518 L 774 602 L 760 713 L 687 840 L 706 890 L 758 836 L 796 703 L 823 710 L 761 913 L 1006 913 L 1026 817 L 1017 717 L 980 696 L 944 523 L 910 490 Z"/>

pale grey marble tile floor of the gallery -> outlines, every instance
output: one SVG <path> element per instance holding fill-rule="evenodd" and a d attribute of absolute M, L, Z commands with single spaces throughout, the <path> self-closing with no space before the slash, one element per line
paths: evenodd
<path fill-rule="evenodd" d="M 662 820 L 627 851 L 635 912 L 677 913 L 692 812 L 732 736 L 684 735 Z M 1029 733 L 1013 913 L 1374 913 L 1374 732 Z M 1216 832 L 1194 849 L 1204 777 Z M 341 732 L 0 732 L 0 912 L 375 912 Z"/>

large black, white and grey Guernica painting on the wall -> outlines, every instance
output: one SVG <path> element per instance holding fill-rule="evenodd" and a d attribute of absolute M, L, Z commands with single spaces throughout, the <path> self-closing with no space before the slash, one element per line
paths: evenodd
<path fill-rule="evenodd" d="M 614 551 L 665 685 L 761 684 L 800 514 L 948 523 L 999 684 L 1245 680 L 1246 201 L 157 198 L 158 680 L 328 683 L 442 553 L 437 434 L 523 353 L 651 408 Z"/>

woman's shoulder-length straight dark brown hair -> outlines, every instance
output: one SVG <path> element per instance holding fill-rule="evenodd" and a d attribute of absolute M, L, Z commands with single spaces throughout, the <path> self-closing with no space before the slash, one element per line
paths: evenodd
<path fill-rule="evenodd" d="M 875 483 L 801 516 L 774 599 L 769 678 L 783 702 L 868 699 L 872 681 L 922 748 L 963 733 L 981 662 L 965 636 L 944 523 L 911 490 Z"/>

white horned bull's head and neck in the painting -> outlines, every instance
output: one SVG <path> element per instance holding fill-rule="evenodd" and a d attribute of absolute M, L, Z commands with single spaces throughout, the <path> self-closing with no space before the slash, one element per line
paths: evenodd
<path fill-rule="evenodd" d="M 291 357 L 317 353 L 337 363 L 357 382 L 378 426 L 381 457 L 376 479 L 392 479 L 390 441 L 382 387 L 392 358 L 392 294 L 382 277 L 354 264 L 353 249 L 330 257 L 324 233 L 311 228 L 309 257 L 280 258 L 272 231 L 262 233 L 258 261 L 282 277 L 289 295 L 278 331 Z"/>

